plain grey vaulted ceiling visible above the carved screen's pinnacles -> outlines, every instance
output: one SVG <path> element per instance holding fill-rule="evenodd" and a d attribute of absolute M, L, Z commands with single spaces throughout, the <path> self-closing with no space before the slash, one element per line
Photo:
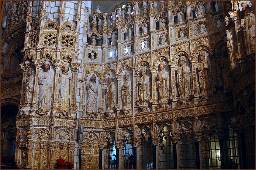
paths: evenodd
<path fill-rule="evenodd" d="M 132 3 L 132 1 L 92 1 L 92 11 L 95 11 L 97 6 L 99 6 L 100 11 L 108 10 L 111 12 L 117 5 L 121 3 L 126 4 L 127 2 Z"/>

